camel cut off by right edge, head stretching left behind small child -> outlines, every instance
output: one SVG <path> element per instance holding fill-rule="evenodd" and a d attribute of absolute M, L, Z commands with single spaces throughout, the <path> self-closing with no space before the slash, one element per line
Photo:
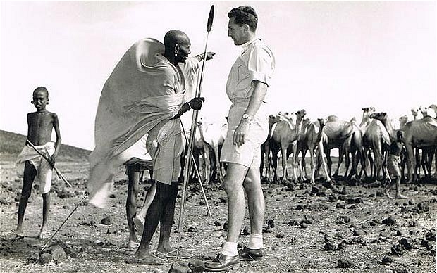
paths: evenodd
<path fill-rule="evenodd" d="M 383 123 L 390 134 L 390 138 L 394 139 L 396 137 L 396 130 L 391 125 L 387 113 L 374 113 L 371 114 L 371 118 L 380 120 Z M 437 146 L 437 121 L 431 117 L 412 120 L 407 122 L 405 127 L 402 128 L 402 131 L 404 132 L 403 142 L 407 149 L 407 169 L 409 175 L 407 183 L 410 183 L 413 180 L 417 180 L 413 172 L 415 167 L 415 161 L 412 160 L 414 158 L 414 148 L 428 146 L 435 148 Z"/>

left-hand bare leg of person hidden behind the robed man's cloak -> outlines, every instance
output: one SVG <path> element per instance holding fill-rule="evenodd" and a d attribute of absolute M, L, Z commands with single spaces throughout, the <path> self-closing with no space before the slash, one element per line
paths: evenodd
<path fill-rule="evenodd" d="M 140 181 L 140 172 L 135 165 L 128 165 L 128 197 L 126 199 L 126 217 L 128 218 L 129 227 L 129 243 L 130 248 L 138 246 L 140 241 L 135 234 L 135 224 L 133 217 L 137 213 L 137 195 L 138 195 L 138 183 Z"/>

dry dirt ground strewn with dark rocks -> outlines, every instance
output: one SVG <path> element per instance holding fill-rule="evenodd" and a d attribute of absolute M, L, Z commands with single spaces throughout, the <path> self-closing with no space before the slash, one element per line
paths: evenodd
<path fill-rule="evenodd" d="M 56 235 L 55 239 L 78 253 L 77 258 L 50 265 L 27 262 L 46 243 L 35 238 L 42 219 L 42 198 L 35 190 L 32 192 L 25 214 L 25 238 L 16 238 L 11 230 L 16 227 L 22 182 L 11 160 L 0 164 L 0 272 L 115 273 L 168 272 L 170 269 L 172 259 L 165 260 L 163 265 L 126 262 L 135 250 L 127 246 L 127 183 L 123 172 L 117 177 L 111 208 L 80 205 Z M 85 162 L 60 162 L 57 166 L 73 188 L 66 188 L 57 177 L 54 179 L 49 218 L 51 232 L 82 198 L 89 167 Z M 144 188 L 147 184 L 142 185 Z M 263 184 L 266 257 L 259 262 L 242 262 L 240 269 L 233 272 L 435 272 L 436 181 L 423 180 L 402 185 L 402 188 L 402 193 L 410 197 L 407 200 L 382 196 L 383 187 L 378 183 L 359 185 L 338 180 L 331 186 L 318 181 L 314 187 L 308 183 Z M 206 191 L 212 217 L 207 217 L 206 207 L 200 205 L 201 194 L 196 188 L 191 189 L 181 234 L 182 247 L 204 259 L 214 257 L 223 243 L 227 212 L 226 193 L 219 184 L 207 186 Z M 139 203 L 143 198 L 141 193 Z M 180 198 L 177 202 L 176 222 Z M 111 225 L 101 224 L 104 217 L 111 217 Z M 247 217 L 245 224 L 248 224 Z M 174 225 L 173 230 L 176 229 Z M 152 248 L 156 247 L 156 237 Z M 178 234 L 172 233 L 172 239 L 176 246 Z M 334 247 L 341 243 L 340 250 L 326 250 L 328 239 Z M 242 243 L 247 240 L 248 236 L 240 237 Z M 400 241 L 402 246 L 411 249 L 394 255 Z M 383 262 L 383 258 L 388 262 Z M 349 260 L 352 267 L 338 267 L 340 259 Z M 188 261 L 180 260 L 185 264 Z"/>

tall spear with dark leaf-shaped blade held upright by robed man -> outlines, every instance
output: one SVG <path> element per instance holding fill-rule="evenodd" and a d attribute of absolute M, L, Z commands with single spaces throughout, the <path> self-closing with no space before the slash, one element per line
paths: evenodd
<path fill-rule="evenodd" d="M 199 84 L 199 87 L 197 88 L 197 91 L 196 91 L 197 97 L 200 96 L 200 93 L 202 91 L 202 80 L 203 80 L 203 75 L 204 75 L 204 67 L 205 67 L 205 62 L 207 61 L 208 37 L 209 37 L 209 32 L 211 31 L 213 20 L 214 20 L 214 5 L 211 6 L 211 9 L 209 10 L 209 15 L 208 15 L 207 41 L 205 42 L 204 60 L 202 63 L 202 71 L 200 73 L 200 84 Z M 176 260 L 178 259 L 178 254 L 179 254 L 180 232 L 182 231 L 182 228 L 183 228 L 183 213 L 185 210 L 185 195 L 186 195 L 186 191 L 187 191 L 188 175 L 190 174 L 190 167 L 191 167 L 190 158 L 192 158 L 192 147 L 193 147 L 194 139 L 195 139 L 197 115 L 198 115 L 198 111 L 193 110 L 192 120 L 191 120 L 190 141 L 188 141 L 187 163 L 185 164 L 184 177 L 183 177 L 182 200 L 180 201 L 179 226 L 178 226 L 179 239 L 178 239 L 178 249 L 176 251 Z"/>

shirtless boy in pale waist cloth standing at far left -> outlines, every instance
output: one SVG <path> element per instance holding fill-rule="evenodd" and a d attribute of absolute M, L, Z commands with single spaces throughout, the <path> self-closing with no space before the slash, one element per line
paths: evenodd
<path fill-rule="evenodd" d="M 50 163 L 42 158 L 27 142 L 18 155 L 17 163 L 24 163 L 23 190 L 21 191 L 20 205 L 18 205 L 18 224 L 16 234 L 23 236 L 23 218 L 32 192 L 32 184 L 35 178 L 39 180 L 39 193 L 42 194 L 42 226 L 38 239 L 47 237 L 47 217 L 50 210 L 50 187 L 51 173 L 56 161 L 56 155 L 61 146 L 61 134 L 59 133 L 58 116 L 46 110 L 49 104 L 49 91 L 45 87 L 38 87 L 33 91 L 31 103 L 37 108 L 36 112 L 27 114 L 27 140 L 35 145 L 37 150 L 49 158 Z M 56 143 L 51 141 L 52 129 L 56 133 Z"/>

